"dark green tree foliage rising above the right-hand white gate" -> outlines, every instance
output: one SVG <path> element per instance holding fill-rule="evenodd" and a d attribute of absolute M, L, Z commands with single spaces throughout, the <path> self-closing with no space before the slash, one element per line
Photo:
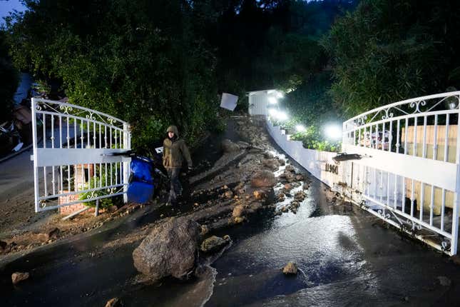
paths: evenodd
<path fill-rule="evenodd" d="M 458 1 L 363 0 L 322 41 L 345 116 L 458 86 Z"/>

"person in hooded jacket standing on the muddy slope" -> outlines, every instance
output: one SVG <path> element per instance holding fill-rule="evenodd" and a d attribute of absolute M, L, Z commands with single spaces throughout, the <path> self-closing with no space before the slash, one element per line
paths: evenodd
<path fill-rule="evenodd" d="M 168 136 L 163 141 L 163 166 L 168 171 L 170 178 L 170 191 L 167 204 L 176 204 L 178 196 L 182 193 L 179 174 L 183 161 L 187 161 L 188 170 L 192 169 L 192 158 L 190 151 L 183 139 L 179 139 L 179 131 L 176 126 L 169 126 L 166 130 Z"/>

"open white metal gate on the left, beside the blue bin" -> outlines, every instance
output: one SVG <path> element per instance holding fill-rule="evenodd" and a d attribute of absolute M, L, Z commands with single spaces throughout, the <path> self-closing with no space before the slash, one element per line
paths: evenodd
<path fill-rule="evenodd" d="M 123 195 L 131 158 L 128 123 L 108 114 L 32 99 L 35 211 Z"/>

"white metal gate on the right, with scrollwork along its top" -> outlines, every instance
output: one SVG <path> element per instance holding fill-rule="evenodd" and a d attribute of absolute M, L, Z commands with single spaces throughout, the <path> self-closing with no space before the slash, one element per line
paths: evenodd
<path fill-rule="evenodd" d="M 459 236 L 460 91 L 389 104 L 343 124 L 343 192 L 446 253 Z"/>

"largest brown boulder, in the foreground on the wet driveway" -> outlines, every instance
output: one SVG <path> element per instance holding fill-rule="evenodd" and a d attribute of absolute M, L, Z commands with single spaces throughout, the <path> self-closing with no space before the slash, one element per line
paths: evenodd
<path fill-rule="evenodd" d="M 188 218 L 173 218 L 153 228 L 133 251 L 134 266 L 153 281 L 183 278 L 195 266 L 200 226 Z"/>

